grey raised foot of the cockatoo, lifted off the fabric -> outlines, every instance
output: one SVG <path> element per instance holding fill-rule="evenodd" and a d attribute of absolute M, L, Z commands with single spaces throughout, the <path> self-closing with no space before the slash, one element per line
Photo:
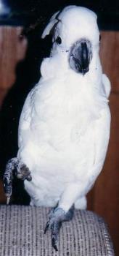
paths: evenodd
<path fill-rule="evenodd" d="M 25 179 L 31 181 L 32 179 L 28 167 L 17 157 L 9 159 L 4 172 L 4 192 L 7 196 L 7 204 L 9 204 L 12 195 L 12 180 L 14 176 L 20 178 L 22 181 Z"/>

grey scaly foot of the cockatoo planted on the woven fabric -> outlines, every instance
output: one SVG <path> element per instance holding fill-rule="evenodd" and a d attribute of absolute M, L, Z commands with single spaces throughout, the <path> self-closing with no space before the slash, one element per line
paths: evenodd
<path fill-rule="evenodd" d="M 48 229 L 52 230 L 52 246 L 56 251 L 58 251 L 57 240 L 62 222 L 68 222 L 73 219 L 73 212 L 74 206 L 72 206 L 67 213 L 62 208 L 57 206 L 49 213 L 49 221 L 46 223 L 44 233 L 46 233 Z"/>

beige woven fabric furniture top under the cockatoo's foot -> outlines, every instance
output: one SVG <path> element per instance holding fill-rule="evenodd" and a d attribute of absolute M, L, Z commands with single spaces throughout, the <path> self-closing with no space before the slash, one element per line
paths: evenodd
<path fill-rule="evenodd" d="M 0 206 L 0 256 L 112 256 L 112 242 L 102 218 L 75 211 L 60 230 L 58 252 L 50 231 L 44 235 L 49 208 Z"/>

